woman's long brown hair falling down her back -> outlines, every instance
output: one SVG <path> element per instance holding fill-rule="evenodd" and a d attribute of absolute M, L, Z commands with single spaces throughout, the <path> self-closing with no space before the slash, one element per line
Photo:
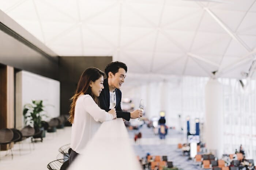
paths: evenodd
<path fill-rule="evenodd" d="M 102 72 L 101 70 L 95 67 L 87 68 L 86 70 L 84 70 L 83 74 L 80 76 L 78 86 L 76 88 L 76 93 L 70 99 L 72 101 L 70 106 L 70 111 L 69 111 L 69 118 L 68 118 L 68 121 L 70 123 L 73 123 L 74 121 L 76 100 L 80 95 L 89 94 L 94 99 L 94 101 L 99 105 L 98 97 L 93 95 L 91 91 L 91 87 L 89 85 L 91 81 L 95 82 L 101 76 L 104 76 L 104 72 Z"/>

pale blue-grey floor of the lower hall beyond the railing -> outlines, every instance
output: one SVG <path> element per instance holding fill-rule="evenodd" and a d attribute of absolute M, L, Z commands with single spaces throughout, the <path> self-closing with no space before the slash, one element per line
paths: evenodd
<path fill-rule="evenodd" d="M 178 143 L 185 143 L 185 135 L 177 133 L 175 130 L 169 130 L 166 139 L 159 139 L 154 135 L 153 129 L 148 129 L 145 125 L 140 130 L 129 130 L 129 136 L 134 137 L 135 133 L 142 133 L 142 139 L 134 142 L 135 153 L 140 158 L 146 157 L 147 153 L 151 155 L 166 155 L 168 161 L 183 170 L 200 169 L 193 161 L 188 160 L 188 156 L 182 156 L 181 150 L 177 149 Z"/>

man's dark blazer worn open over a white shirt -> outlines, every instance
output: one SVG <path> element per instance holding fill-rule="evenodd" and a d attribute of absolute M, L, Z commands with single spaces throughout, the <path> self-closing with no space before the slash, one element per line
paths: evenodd
<path fill-rule="evenodd" d="M 106 112 L 110 111 L 110 94 L 109 94 L 109 84 L 108 84 L 108 78 L 104 79 L 103 82 L 104 88 L 101 91 L 101 94 L 99 95 L 99 106 L 105 110 Z M 119 89 L 115 89 L 116 92 L 116 116 L 117 118 L 123 118 L 127 121 L 131 118 L 130 112 L 124 112 L 121 109 L 121 98 L 122 98 L 122 92 Z"/>

